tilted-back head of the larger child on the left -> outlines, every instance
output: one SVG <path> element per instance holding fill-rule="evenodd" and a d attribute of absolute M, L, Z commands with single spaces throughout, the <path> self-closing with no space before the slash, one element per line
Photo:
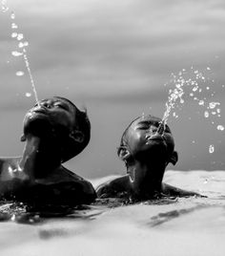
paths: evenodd
<path fill-rule="evenodd" d="M 61 160 L 70 160 L 89 143 L 91 123 L 69 99 L 53 96 L 39 101 L 24 119 L 24 136 L 52 138 L 60 145 Z"/>

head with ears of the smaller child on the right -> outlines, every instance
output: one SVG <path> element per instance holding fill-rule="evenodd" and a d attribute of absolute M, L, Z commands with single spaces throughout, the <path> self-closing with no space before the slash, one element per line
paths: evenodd
<path fill-rule="evenodd" d="M 175 164 L 177 153 L 169 126 L 166 125 L 163 135 L 156 133 L 160 121 L 160 118 L 150 115 L 137 117 L 124 131 L 117 154 L 127 166 L 135 160 Z"/>

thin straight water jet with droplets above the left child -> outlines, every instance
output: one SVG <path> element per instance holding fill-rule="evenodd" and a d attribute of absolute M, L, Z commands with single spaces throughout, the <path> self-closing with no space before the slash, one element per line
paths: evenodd
<path fill-rule="evenodd" d="M 2 7 L 3 12 L 7 12 L 10 10 L 10 8 L 7 5 L 7 0 L 1 1 L 1 7 Z M 17 31 L 18 25 L 15 23 L 15 13 L 13 11 L 10 12 L 10 19 L 11 19 L 11 30 L 12 30 L 11 38 L 14 38 L 15 40 L 18 41 L 18 49 L 19 49 L 18 51 L 12 51 L 11 54 L 15 57 L 23 56 L 25 66 L 27 68 L 27 71 L 28 71 L 28 74 L 29 74 L 30 80 L 31 80 L 31 90 L 33 92 L 33 96 L 35 98 L 36 103 L 39 104 L 36 87 L 35 87 L 34 80 L 33 80 L 32 74 L 31 74 L 31 65 L 30 65 L 28 53 L 26 51 L 26 47 L 29 46 L 29 42 L 22 41 L 24 39 L 24 34 Z M 23 71 L 17 71 L 15 73 L 15 75 L 17 75 L 17 76 L 22 76 L 24 74 L 25 73 Z M 27 92 L 25 94 L 25 96 L 30 97 L 31 93 Z"/>

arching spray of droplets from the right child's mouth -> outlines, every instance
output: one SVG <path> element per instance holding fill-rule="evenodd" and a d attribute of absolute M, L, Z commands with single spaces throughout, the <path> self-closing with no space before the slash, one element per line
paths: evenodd
<path fill-rule="evenodd" d="M 211 68 L 206 68 L 207 72 L 210 72 Z M 157 129 L 157 133 L 162 135 L 165 126 L 167 124 L 168 118 L 173 115 L 177 118 L 175 110 L 177 108 L 180 110 L 184 104 L 184 95 L 189 93 L 189 96 L 194 99 L 199 105 L 199 107 L 204 108 L 204 117 L 211 120 L 210 117 L 221 117 L 220 102 L 214 99 L 215 92 L 212 90 L 211 85 L 215 83 L 213 79 L 206 77 L 198 70 L 194 70 L 193 67 L 189 71 L 183 69 L 177 75 L 172 74 L 172 79 L 165 86 L 170 86 L 173 89 L 169 90 L 168 100 L 166 101 L 166 110 L 162 117 L 162 121 Z M 224 85 L 222 85 L 224 88 Z M 212 124 L 216 126 L 218 131 L 224 131 L 224 126 L 219 123 L 219 121 L 212 120 Z M 209 146 L 209 153 L 215 152 L 215 146 L 211 144 Z"/>

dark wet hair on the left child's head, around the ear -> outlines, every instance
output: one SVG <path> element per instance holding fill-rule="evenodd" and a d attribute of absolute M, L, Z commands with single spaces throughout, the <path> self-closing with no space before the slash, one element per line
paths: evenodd
<path fill-rule="evenodd" d="M 75 123 L 72 127 L 72 132 L 74 133 L 75 131 L 81 131 L 84 135 L 84 140 L 82 142 L 75 141 L 74 139 L 72 139 L 72 136 L 69 136 L 63 141 L 63 151 L 61 158 L 62 162 L 65 162 L 78 155 L 88 145 L 91 138 L 91 122 L 87 115 L 87 110 L 80 111 L 68 98 L 61 96 L 54 97 L 67 101 L 69 104 L 72 105 L 75 112 Z"/>

